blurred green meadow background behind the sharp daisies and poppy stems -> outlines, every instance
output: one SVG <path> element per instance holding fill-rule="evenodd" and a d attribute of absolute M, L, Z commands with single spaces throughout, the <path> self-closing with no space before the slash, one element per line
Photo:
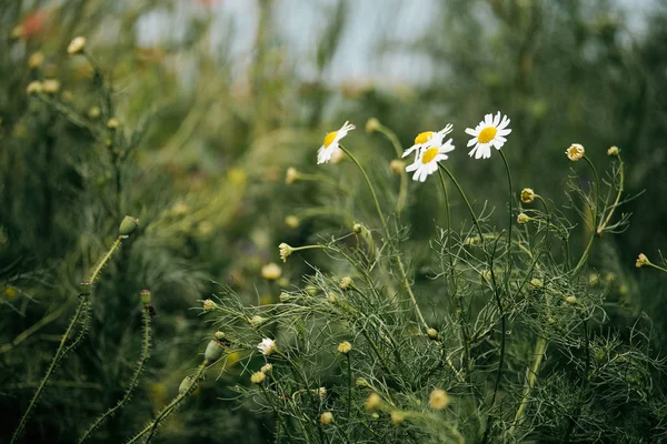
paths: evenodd
<path fill-rule="evenodd" d="M 71 442 L 122 395 L 139 354 L 141 289 L 153 292 L 158 312 L 152 357 L 130 407 L 98 432 L 99 442 L 138 430 L 197 365 L 195 350 L 215 326 L 191 309 L 216 282 L 248 303 L 298 284 L 311 271 L 301 261 L 286 264 L 278 282 L 261 278 L 262 265 L 278 262 L 279 242 L 346 232 L 351 218 L 372 214 L 359 203 L 365 191 L 350 162 L 315 165 L 323 134 L 346 120 L 357 124 L 346 147 L 394 184 L 394 149 L 366 133 L 366 121 L 379 119 L 405 148 L 451 122 L 450 168 L 469 195 L 492 206 L 505 205 L 505 172 L 497 159 L 469 161 L 465 149 L 464 130 L 485 113 L 511 118 L 504 151 L 515 192 L 530 186 L 558 203 L 570 143 L 599 164 L 618 145 L 627 192 L 645 192 L 626 206 L 630 229 L 604 239 L 594 263 L 615 281 L 610 304 L 628 319 L 648 312 L 656 347 L 667 341 L 665 278 L 634 269 L 639 252 L 658 259 L 667 245 L 665 1 L 2 0 L 0 33 L 2 436 L 122 215 L 138 216 L 141 233 L 104 271 L 91 333 L 53 377 L 26 442 Z M 76 36 L 88 39 L 109 94 L 83 58 L 68 57 Z M 87 125 L 118 118 L 127 158 L 115 159 L 86 125 L 26 93 L 44 79 L 59 81 L 53 101 Z M 320 183 L 286 184 L 288 167 L 342 180 L 357 206 Z M 410 184 L 401 221 L 411 240 L 435 233 L 442 214 L 429 202 L 438 195 L 435 182 Z M 289 215 L 298 222 L 286 224 Z M 419 254 L 411 265 L 419 271 Z M 270 440 L 266 418 L 227 389 L 245 381 L 241 371 L 230 362 L 209 379 L 156 441 Z"/>

